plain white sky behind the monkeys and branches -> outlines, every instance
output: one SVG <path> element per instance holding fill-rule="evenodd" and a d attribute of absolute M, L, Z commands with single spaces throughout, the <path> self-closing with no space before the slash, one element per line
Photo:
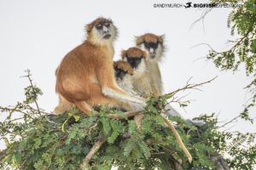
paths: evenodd
<path fill-rule="evenodd" d="M 236 74 L 221 72 L 212 61 L 199 59 L 206 57 L 206 46 L 191 48 L 202 42 L 217 50 L 227 48 L 227 40 L 231 39 L 226 22 L 230 8 L 214 9 L 207 14 L 204 33 L 201 23 L 189 29 L 200 17 L 200 10 L 154 8 L 153 4 L 158 2 L 187 3 L 179 0 L 0 0 L 0 105 L 15 105 L 24 99 L 23 88 L 28 82 L 20 76 L 30 69 L 33 82 L 44 92 L 38 101 L 40 107 L 53 111 L 58 102 L 55 68 L 65 54 L 84 40 L 85 24 L 104 16 L 111 18 L 119 29 L 114 59 L 119 59 L 121 49 L 135 45 L 134 36 L 147 32 L 166 35 L 166 54 L 160 65 L 166 92 L 183 87 L 189 77 L 193 77 L 191 82 L 205 82 L 218 76 L 201 88 L 203 92 L 190 92 L 187 99 L 193 101 L 186 112 L 174 105 L 183 116 L 215 112 L 223 122 L 237 116 L 247 101 L 243 88 L 249 79 L 243 68 Z M 252 116 L 255 117 L 255 110 Z M 256 126 L 237 122 L 230 130 L 256 132 Z"/>

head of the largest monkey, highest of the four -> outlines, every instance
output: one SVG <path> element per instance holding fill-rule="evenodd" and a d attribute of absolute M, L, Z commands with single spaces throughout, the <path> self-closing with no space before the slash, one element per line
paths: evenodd
<path fill-rule="evenodd" d="M 96 45 L 104 45 L 117 36 L 117 28 L 113 26 L 112 20 L 97 18 L 86 26 L 88 40 Z"/>

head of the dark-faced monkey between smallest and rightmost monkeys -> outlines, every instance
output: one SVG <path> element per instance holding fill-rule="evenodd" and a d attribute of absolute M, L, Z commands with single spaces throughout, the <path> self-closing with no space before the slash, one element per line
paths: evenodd
<path fill-rule="evenodd" d="M 146 71 L 147 54 L 140 48 L 128 48 L 123 50 L 121 54 L 122 60 L 131 65 L 134 76 L 137 77 Z"/>

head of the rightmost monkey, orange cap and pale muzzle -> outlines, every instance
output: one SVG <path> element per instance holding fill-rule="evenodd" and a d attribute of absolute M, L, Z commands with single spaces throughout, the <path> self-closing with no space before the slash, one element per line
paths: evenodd
<path fill-rule="evenodd" d="M 148 54 L 148 61 L 158 62 L 164 53 L 164 36 L 156 36 L 152 33 L 137 37 L 138 48 L 143 49 Z"/>

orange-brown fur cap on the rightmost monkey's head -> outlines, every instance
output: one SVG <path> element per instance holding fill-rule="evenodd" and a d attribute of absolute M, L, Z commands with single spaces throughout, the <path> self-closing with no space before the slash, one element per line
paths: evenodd
<path fill-rule="evenodd" d="M 160 42 L 163 44 L 164 42 L 164 36 L 157 36 L 152 33 L 144 34 L 143 36 L 136 38 L 136 44 L 141 45 L 143 42 Z"/>

